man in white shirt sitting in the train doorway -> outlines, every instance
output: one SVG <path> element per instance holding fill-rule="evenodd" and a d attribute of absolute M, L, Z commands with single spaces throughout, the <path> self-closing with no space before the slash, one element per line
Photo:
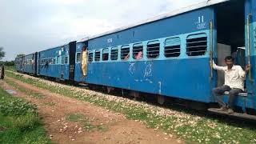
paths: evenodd
<path fill-rule="evenodd" d="M 225 73 L 225 84 L 212 90 L 214 97 L 218 104 L 221 106 L 219 111 L 226 111 L 229 114 L 234 113 L 234 100 L 239 93 L 244 91 L 244 81 L 246 74 L 250 70 L 250 64 L 246 66 L 246 70 L 242 70 L 241 66 L 234 65 L 234 58 L 228 56 L 225 58 L 226 66 L 217 66 L 214 62 L 210 62 L 213 65 L 214 70 L 222 70 Z M 223 102 L 222 94 L 225 91 L 229 91 L 229 102 L 226 104 Z"/>

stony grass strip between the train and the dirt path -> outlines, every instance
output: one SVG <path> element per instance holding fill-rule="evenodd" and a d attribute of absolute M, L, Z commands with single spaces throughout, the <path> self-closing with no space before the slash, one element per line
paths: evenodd
<path fill-rule="evenodd" d="M 7 76 L 29 83 L 66 97 L 76 98 L 101 106 L 108 110 L 124 114 L 126 118 L 139 120 L 146 126 L 176 134 L 188 143 L 256 143 L 256 127 L 245 122 L 226 121 L 221 118 L 199 117 L 186 111 L 176 111 L 174 114 L 162 116 L 158 107 L 147 109 L 143 104 L 130 104 L 125 101 L 115 102 L 97 95 L 84 95 L 83 92 L 72 90 L 68 86 L 52 86 L 32 78 L 24 78 L 21 74 L 7 72 Z M 178 113 L 178 114 L 177 114 Z"/>

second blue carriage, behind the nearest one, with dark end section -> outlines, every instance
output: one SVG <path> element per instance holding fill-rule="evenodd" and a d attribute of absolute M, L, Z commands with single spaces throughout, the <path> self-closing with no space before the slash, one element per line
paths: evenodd
<path fill-rule="evenodd" d="M 74 81 L 76 42 L 38 52 L 38 75 Z"/>

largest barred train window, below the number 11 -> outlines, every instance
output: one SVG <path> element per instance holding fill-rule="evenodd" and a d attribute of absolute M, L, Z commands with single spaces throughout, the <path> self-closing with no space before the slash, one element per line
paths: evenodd
<path fill-rule="evenodd" d="M 186 38 L 186 54 L 188 56 L 198 56 L 206 54 L 207 35 L 193 34 Z"/>

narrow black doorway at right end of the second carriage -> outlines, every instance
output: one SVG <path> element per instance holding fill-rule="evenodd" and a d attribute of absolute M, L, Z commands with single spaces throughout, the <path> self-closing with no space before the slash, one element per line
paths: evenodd
<path fill-rule="evenodd" d="M 75 52 L 76 52 L 76 41 L 74 42 L 70 42 L 69 46 L 70 46 L 70 77 L 69 80 L 70 81 L 74 81 L 74 70 L 75 70 Z"/>

